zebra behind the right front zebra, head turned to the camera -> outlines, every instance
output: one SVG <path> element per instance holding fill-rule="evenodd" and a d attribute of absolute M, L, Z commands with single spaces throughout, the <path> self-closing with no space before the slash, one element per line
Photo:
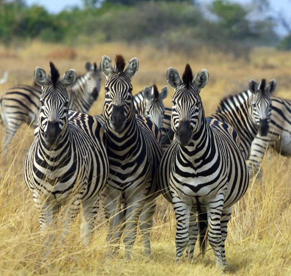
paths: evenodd
<path fill-rule="evenodd" d="M 249 174 L 255 174 L 249 160 L 253 140 L 259 133 L 266 136 L 271 119 L 271 94 L 276 90 L 276 80 L 266 83 L 249 81 L 249 89 L 221 100 L 216 113 L 208 116 L 231 125 L 240 138 L 240 149 L 248 165 Z"/>

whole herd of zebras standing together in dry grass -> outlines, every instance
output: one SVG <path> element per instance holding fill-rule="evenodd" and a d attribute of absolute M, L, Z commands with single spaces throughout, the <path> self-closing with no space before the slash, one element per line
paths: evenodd
<path fill-rule="evenodd" d="M 37 125 L 24 181 L 46 245 L 53 239 L 45 230 L 61 206 L 67 208 L 63 239 L 82 209 L 81 240 L 88 245 L 101 203 L 109 223 L 108 254 L 116 253 L 123 237 L 130 258 L 139 226 L 144 253 L 150 255 L 156 198 L 163 195 L 176 216 L 175 262 L 185 249 L 193 258 L 197 239 L 204 254 L 208 240 L 224 270 L 232 205 L 246 192 L 269 145 L 291 152 L 291 101 L 271 96 L 275 80 L 251 80 L 247 91 L 221 100 L 216 113 L 206 117 L 200 97 L 209 79 L 206 69 L 194 77 L 186 64 L 182 78 L 168 69 L 174 88 L 170 109 L 163 104 L 168 86 L 160 93 L 156 85 L 146 86 L 133 96 L 138 68 L 136 57 L 126 66 L 121 55 L 115 66 L 107 56 L 100 67 L 87 63 L 88 72 L 79 78 L 70 69 L 60 79 L 52 62 L 50 76 L 36 67 L 40 87 L 17 85 L 2 93 L 2 151 L 8 151 L 22 123 Z M 106 76 L 102 114 L 90 116 L 101 71 Z"/>

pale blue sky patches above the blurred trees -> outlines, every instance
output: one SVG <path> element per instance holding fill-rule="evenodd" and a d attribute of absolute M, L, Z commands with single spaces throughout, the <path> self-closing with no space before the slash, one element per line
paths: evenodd
<path fill-rule="evenodd" d="M 251 3 L 251 0 L 229 0 L 230 2 L 238 2 L 241 4 Z M 74 6 L 78 6 L 80 8 L 83 7 L 82 0 L 25 0 L 26 4 L 31 6 L 33 4 L 38 4 L 40 6 L 44 6 L 47 11 L 50 13 L 59 13 L 65 8 L 72 8 Z M 201 5 L 209 4 L 212 0 L 199 0 Z M 278 15 L 281 12 L 285 15 L 285 18 L 290 22 L 291 25 L 291 0 L 269 0 L 271 9 L 269 11 L 270 15 Z M 283 29 L 278 29 L 280 33 L 283 32 Z"/>

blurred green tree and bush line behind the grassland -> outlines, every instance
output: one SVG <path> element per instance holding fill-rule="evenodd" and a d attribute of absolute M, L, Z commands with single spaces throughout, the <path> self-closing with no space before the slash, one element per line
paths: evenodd
<path fill-rule="evenodd" d="M 122 41 L 186 53 L 206 45 L 247 56 L 253 46 L 280 42 L 275 20 L 262 13 L 268 1 L 252 3 L 214 0 L 205 9 L 195 0 L 83 0 L 84 8 L 50 14 L 23 0 L 0 0 L 0 42 L 9 46 L 37 38 L 74 46 Z"/>

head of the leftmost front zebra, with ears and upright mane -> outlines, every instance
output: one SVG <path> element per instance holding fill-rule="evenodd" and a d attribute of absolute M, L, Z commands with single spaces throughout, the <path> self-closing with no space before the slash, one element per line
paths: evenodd
<path fill-rule="evenodd" d="M 42 87 L 40 95 L 40 111 L 38 129 L 41 140 L 49 147 L 57 146 L 68 127 L 68 95 L 67 87 L 74 84 L 76 71 L 70 69 L 60 80 L 58 69 L 52 62 L 50 77 L 40 67 L 36 67 L 34 78 Z"/>

